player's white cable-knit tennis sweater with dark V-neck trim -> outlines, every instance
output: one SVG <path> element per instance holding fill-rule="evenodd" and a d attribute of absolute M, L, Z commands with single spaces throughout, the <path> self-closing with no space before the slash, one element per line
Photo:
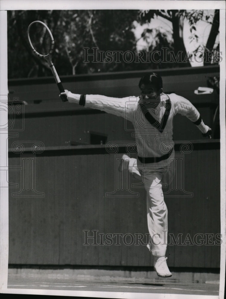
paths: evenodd
<path fill-rule="evenodd" d="M 79 103 L 80 97 L 80 94 L 69 91 L 67 100 L 70 103 Z M 168 151 L 170 147 L 173 148 L 173 117 L 177 113 L 196 123 L 202 133 L 210 129 L 203 123 L 192 103 L 174 93 L 162 93 L 156 107 L 151 103 L 142 104 L 140 97 L 115 98 L 99 94 L 85 95 L 84 103 L 85 107 L 99 109 L 131 121 L 135 129 L 139 157 L 161 157 L 166 154 L 167 148 Z M 167 144 L 170 147 L 167 147 Z"/>

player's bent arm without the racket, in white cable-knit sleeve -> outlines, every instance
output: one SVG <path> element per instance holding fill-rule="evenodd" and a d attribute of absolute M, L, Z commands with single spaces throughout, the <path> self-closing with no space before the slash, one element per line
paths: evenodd
<path fill-rule="evenodd" d="M 209 137 L 211 139 L 212 130 L 205 125 L 199 111 L 189 100 L 175 94 L 174 113 L 185 115 L 199 128 L 204 137 Z"/>

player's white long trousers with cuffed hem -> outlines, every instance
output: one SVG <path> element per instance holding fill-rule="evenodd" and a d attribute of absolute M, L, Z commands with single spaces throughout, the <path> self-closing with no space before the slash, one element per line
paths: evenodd
<path fill-rule="evenodd" d="M 164 202 L 162 184 L 170 183 L 170 175 L 167 167 L 163 165 L 169 164 L 172 159 L 168 158 L 164 163 L 161 163 L 161 161 L 155 167 L 153 167 L 154 164 L 145 164 L 144 166 L 135 158 L 128 157 L 128 159 L 129 172 L 136 179 L 144 182 L 144 188 L 147 193 L 147 225 L 150 234 L 147 247 L 153 256 L 165 256 L 167 248 L 168 211 Z"/>

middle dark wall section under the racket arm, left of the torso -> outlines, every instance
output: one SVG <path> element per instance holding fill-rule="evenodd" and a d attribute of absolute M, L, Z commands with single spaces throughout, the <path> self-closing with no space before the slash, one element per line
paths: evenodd
<path fill-rule="evenodd" d="M 16 125 L 19 126 L 16 119 Z M 58 116 L 39 116 L 24 119 L 24 130 L 18 131 L 18 136 L 9 138 L 9 149 L 11 144 L 16 141 L 41 141 L 45 147 L 64 146 L 71 143 L 80 142 L 90 143 L 89 132 L 106 135 L 108 141 L 130 141 L 133 140 L 131 132 L 132 123 L 110 114 L 91 114 L 91 115 L 58 115 Z"/>

